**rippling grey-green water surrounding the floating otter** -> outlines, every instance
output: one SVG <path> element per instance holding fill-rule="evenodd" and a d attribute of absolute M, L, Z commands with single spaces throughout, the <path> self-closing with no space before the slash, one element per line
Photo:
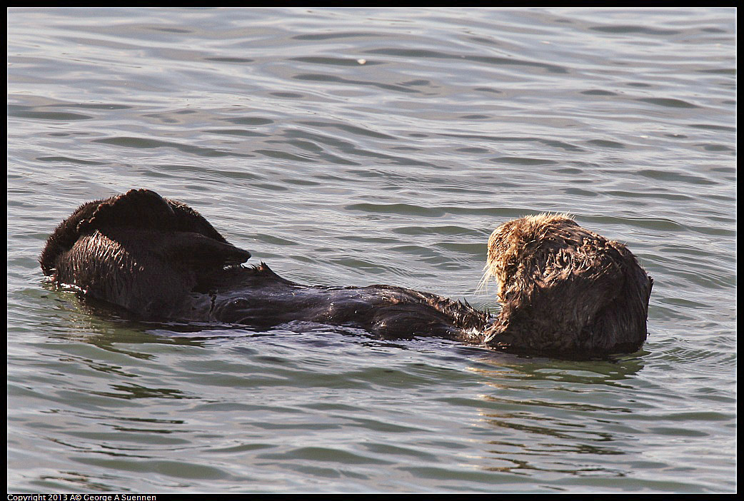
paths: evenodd
<path fill-rule="evenodd" d="M 32 492 L 731 492 L 735 11 L 11 9 L 8 484 Z M 153 326 L 42 284 L 148 187 L 289 279 L 476 294 L 568 211 L 655 279 L 644 348 Z"/>

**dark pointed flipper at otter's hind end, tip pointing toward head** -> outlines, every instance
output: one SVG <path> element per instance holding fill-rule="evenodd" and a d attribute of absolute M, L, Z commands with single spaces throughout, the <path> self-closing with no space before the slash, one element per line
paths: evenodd
<path fill-rule="evenodd" d="M 218 242 L 200 233 L 179 231 L 167 233 L 158 242 L 156 252 L 169 262 L 188 268 L 205 269 L 240 265 L 251 253 L 227 242 Z"/>

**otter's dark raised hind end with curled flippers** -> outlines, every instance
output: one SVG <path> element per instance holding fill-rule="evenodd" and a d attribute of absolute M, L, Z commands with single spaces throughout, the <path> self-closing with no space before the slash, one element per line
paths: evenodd
<path fill-rule="evenodd" d="M 78 207 L 39 262 L 57 283 L 142 317 L 173 318 L 204 279 L 250 256 L 187 205 L 129 190 Z"/>

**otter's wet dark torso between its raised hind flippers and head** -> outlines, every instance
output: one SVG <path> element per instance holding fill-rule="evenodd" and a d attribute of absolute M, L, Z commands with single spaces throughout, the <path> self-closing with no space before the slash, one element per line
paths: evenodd
<path fill-rule="evenodd" d="M 265 263 L 229 268 L 208 288 L 221 322 L 269 327 L 293 320 L 351 326 L 383 337 L 465 338 L 487 323 L 467 303 L 391 285 L 319 287 L 283 279 Z"/>

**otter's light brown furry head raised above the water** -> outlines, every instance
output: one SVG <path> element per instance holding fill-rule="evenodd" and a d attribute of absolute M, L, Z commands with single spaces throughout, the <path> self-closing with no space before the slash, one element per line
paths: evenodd
<path fill-rule="evenodd" d="M 501 224 L 484 270 L 502 305 L 490 345 L 586 355 L 635 351 L 646 339 L 652 279 L 624 245 L 567 215 Z"/>

